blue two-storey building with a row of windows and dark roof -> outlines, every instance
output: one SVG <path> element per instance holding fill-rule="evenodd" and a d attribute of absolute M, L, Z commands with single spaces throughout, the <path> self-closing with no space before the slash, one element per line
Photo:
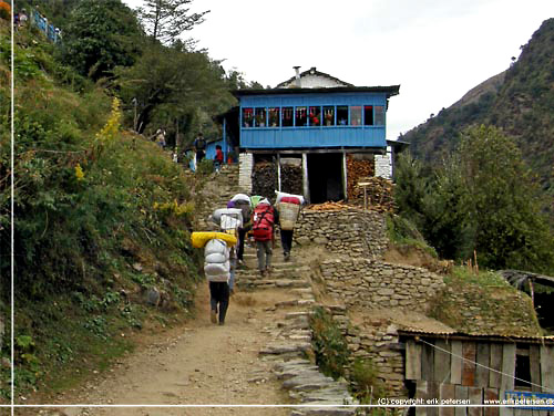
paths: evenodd
<path fill-rule="evenodd" d="M 372 164 L 376 173 L 379 158 L 389 160 L 387 108 L 400 86 L 353 86 L 316 67 L 295 70 L 275 89 L 234 92 L 239 106 L 222 119 L 224 141 L 228 134 L 238 144 L 239 186 L 264 195 L 256 166 L 273 164 L 278 190 L 301 193 L 310 202 L 347 199 L 349 158 Z M 299 169 L 296 186 L 283 177 L 291 171 L 284 165 Z M 390 176 L 389 162 L 387 167 Z"/>

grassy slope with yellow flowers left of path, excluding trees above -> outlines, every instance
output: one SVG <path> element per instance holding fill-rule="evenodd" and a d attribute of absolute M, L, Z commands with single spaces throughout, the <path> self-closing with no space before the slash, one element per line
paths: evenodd
<path fill-rule="evenodd" d="M 0 38 L 0 77 L 7 44 Z M 191 315 L 202 260 L 189 243 L 198 206 L 189 189 L 197 179 L 187 179 L 155 144 L 122 132 L 112 97 L 57 62 L 51 45 L 21 33 L 14 52 L 16 387 L 18 396 L 51 396 L 109 368 L 132 351 L 141 329 Z M 2 135 L 10 122 L 6 96 L 2 87 Z M 10 241 L 6 143 L 1 252 Z M 0 262 L 4 273 L 9 264 Z M 161 306 L 145 302 L 147 288 L 163 293 Z M 1 289 L 6 312 L 8 288 Z M 10 349 L 6 334 L 0 356 L 7 360 Z M 9 379 L 9 367 L 0 372 L 0 381 Z M 8 394 L 0 384 L 0 401 Z"/>

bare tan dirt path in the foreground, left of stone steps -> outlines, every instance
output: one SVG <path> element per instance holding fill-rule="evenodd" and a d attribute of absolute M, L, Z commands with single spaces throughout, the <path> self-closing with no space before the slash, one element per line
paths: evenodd
<path fill-rule="evenodd" d="M 290 403 L 270 373 L 270 361 L 258 352 L 270 342 L 265 330 L 275 322 L 275 302 L 287 300 L 279 290 L 237 293 L 225 325 L 209 322 L 207 284 L 197 297 L 198 318 L 173 330 L 120 362 L 98 385 L 92 383 L 64 404 L 109 405 L 275 405 Z M 257 407 L 60 407 L 40 414 L 84 415 L 288 415 L 286 408 Z"/>

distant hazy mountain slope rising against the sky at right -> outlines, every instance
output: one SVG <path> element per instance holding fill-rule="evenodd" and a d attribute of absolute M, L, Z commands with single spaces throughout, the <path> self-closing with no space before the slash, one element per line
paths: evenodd
<path fill-rule="evenodd" d="M 472 124 L 513 137 L 543 188 L 554 195 L 554 19 L 545 20 L 517 62 L 403 135 L 416 157 L 438 160 Z"/>

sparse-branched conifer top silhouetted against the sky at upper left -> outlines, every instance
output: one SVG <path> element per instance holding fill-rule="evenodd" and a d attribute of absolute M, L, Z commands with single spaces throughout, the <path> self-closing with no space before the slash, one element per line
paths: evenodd
<path fill-rule="evenodd" d="M 146 33 L 164 44 L 172 44 L 185 31 L 204 21 L 209 12 L 191 13 L 188 7 L 193 0 L 147 0 L 144 8 L 138 8 L 140 19 Z"/>

